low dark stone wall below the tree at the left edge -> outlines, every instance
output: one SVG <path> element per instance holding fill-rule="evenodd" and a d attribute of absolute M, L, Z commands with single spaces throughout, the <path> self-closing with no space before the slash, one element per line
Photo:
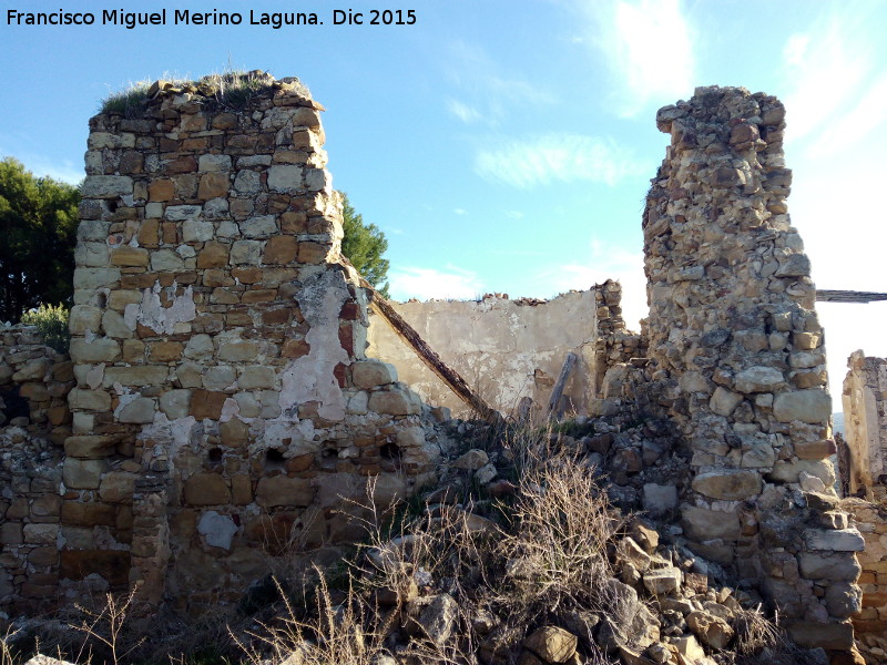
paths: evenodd
<path fill-rule="evenodd" d="M 35 328 L 0 327 L 0 620 L 38 612 L 58 594 L 72 383 L 68 356 L 43 345 Z"/>

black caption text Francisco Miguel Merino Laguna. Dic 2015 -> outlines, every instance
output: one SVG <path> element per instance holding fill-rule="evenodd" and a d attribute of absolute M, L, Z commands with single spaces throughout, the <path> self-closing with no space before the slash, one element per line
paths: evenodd
<path fill-rule="evenodd" d="M 416 23 L 414 10 L 371 10 L 366 13 L 350 9 L 330 10 L 333 25 L 412 25 Z M 105 9 L 98 12 L 70 12 L 60 9 L 53 12 L 7 10 L 7 25 L 121 25 L 133 30 L 140 25 L 166 25 L 172 18 L 173 25 L 265 25 L 278 30 L 284 25 L 323 25 L 324 21 L 315 12 L 264 12 L 251 9 L 248 14 L 238 11 L 193 11 L 165 9 L 154 12 L 123 11 Z"/>

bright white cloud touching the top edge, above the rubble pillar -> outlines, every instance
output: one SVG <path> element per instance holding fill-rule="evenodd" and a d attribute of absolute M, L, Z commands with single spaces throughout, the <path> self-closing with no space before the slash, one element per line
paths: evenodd
<path fill-rule="evenodd" d="M 620 115 L 692 93 L 694 30 L 680 0 L 572 0 L 571 6 L 589 33 L 580 41 L 595 60 L 603 55 L 606 62 L 614 82 L 610 96 Z"/>

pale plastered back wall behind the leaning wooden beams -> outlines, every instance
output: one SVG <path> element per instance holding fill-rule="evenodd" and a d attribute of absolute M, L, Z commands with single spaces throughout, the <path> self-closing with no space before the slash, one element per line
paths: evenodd
<path fill-rule="evenodd" d="M 570 291 L 551 300 L 487 295 L 481 300 L 392 303 L 441 360 L 492 408 L 517 415 L 532 400 L 536 420 L 544 418 L 551 390 L 567 358 L 579 362 L 564 390 L 565 412 L 584 415 L 593 396 L 597 290 Z M 619 301 L 613 304 L 619 306 Z M 447 385 L 379 317 L 371 317 L 368 352 L 391 362 L 398 376 L 429 403 L 470 417 Z M 522 401 L 523 400 L 523 401 Z"/>

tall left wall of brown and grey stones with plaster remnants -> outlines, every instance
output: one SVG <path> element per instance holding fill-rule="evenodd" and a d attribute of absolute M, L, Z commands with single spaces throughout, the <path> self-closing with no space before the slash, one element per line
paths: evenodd
<path fill-rule="evenodd" d="M 60 536 L 71 597 L 129 584 L 151 603 L 234 600 L 268 556 L 356 538 L 336 509 L 367 478 L 388 501 L 434 469 L 419 398 L 364 355 L 322 108 L 297 80 L 258 81 L 234 99 L 160 82 L 137 117 L 90 121 Z"/>

